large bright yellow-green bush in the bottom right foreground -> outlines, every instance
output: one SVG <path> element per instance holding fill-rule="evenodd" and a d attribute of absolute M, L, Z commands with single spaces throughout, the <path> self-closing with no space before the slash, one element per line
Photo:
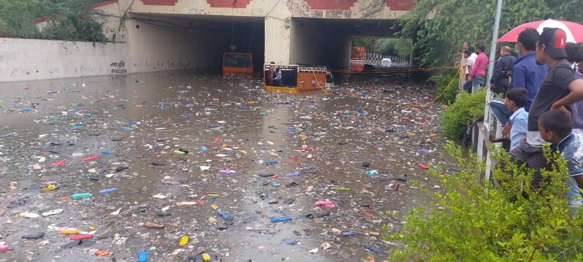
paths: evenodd
<path fill-rule="evenodd" d="M 535 170 L 511 163 L 503 149 L 493 152 L 505 163 L 493 167 L 501 184 L 495 187 L 476 182 L 486 169 L 483 160 L 462 156 L 452 142 L 445 148 L 461 171 L 432 168 L 445 191 L 434 193 L 429 206 L 410 210 L 402 232 L 383 236 L 403 244 L 388 261 L 583 261 L 583 216 L 571 216 L 567 206 L 567 168 L 558 152 L 545 149 L 553 169 L 542 170 L 548 182 L 535 189 L 526 186 Z M 583 214 L 583 207 L 577 211 Z"/>

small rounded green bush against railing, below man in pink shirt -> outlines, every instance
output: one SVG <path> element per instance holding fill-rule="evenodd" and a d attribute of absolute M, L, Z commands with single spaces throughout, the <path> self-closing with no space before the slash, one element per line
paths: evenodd
<path fill-rule="evenodd" d="M 475 94 L 461 92 L 458 99 L 443 114 L 441 128 L 445 137 L 459 139 L 466 132 L 466 125 L 484 115 L 486 90 Z"/>

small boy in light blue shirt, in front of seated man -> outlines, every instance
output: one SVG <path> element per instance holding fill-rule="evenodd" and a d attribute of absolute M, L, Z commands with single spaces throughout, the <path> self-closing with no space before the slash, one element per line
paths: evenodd
<path fill-rule="evenodd" d="M 524 87 L 512 88 L 506 92 L 504 103 L 512 115 L 508 118 L 512 128 L 510 130 L 510 150 L 520 145 L 522 138 L 528 131 L 528 112 L 524 110 L 524 105 L 528 101 L 528 91 Z"/>

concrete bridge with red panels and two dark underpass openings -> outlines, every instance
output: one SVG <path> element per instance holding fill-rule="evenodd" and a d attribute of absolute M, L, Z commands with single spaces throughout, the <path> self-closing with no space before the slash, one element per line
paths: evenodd
<path fill-rule="evenodd" d="M 253 53 L 255 69 L 271 61 L 348 69 L 352 38 L 394 37 L 396 19 L 413 5 L 413 0 L 112 0 L 90 8 L 108 38 L 128 45 L 128 73 L 141 73 L 216 70 L 231 45 Z M 45 23 L 38 20 L 41 28 Z"/>

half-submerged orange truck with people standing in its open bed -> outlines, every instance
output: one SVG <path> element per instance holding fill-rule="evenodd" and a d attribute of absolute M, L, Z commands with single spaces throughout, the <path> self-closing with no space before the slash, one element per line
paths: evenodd
<path fill-rule="evenodd" d="M 282 78 L 275 80 L 276 69 Z M 265 64 L 264 88 L 279 91 L 307 91 L 326 88 L 325 66 L 312 64 Z"/>

